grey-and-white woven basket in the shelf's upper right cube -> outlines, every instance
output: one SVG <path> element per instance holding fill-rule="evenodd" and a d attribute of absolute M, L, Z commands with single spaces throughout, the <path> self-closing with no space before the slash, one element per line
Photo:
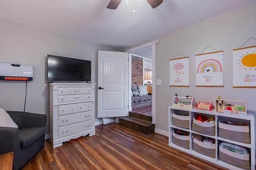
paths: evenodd
<path fill-rule="evenodd" d="M 234 122 L 238 125 L 229 125 L 224 123 L 226 120 L 220 119 L 218 121 L 218 136 L 225 139 L 230 139 L 233 141 L 250 143 L 250 127 L 248 126 L 238 126 L 241 122 Z"/>

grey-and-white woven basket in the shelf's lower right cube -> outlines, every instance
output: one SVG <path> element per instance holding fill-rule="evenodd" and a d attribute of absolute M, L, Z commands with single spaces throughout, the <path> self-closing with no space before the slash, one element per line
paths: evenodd
<path fill-rule="evenodd" d="M 254 153 L 253 153 L 254 154 Z M 219 147 L 219 159 L 242 169 L 250 170 L 250 155 L 238 154 Z"/>

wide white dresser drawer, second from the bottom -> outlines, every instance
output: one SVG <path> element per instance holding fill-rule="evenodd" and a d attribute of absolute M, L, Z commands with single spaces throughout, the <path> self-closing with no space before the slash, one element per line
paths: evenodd
<path fill-rule="evenodd" d="M 62 115 L 58 117 L 59 127 L 82 122 L 82 121 L 87 121 L 87 120 L 90 120 L 91 117 L 92 117 L 91 111 L 74 113 L 71 115 Z"/>

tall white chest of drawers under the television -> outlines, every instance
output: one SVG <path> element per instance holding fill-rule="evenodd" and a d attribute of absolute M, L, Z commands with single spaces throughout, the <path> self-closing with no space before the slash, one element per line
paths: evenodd
<path fill-rule="evenodd" d="M 49 83 L 50 141 L 59 147 L 70 139 L 95 135 L 95 84 Z"/>

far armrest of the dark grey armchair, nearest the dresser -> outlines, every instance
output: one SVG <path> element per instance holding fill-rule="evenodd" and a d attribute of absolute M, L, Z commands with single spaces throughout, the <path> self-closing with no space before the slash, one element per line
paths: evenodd
<path fill-rule="evenodd" d="M 46 115 L 29 113 L 25 111 L 6 111 L 19 129 L 28 127 L 45 127 Z"/>

